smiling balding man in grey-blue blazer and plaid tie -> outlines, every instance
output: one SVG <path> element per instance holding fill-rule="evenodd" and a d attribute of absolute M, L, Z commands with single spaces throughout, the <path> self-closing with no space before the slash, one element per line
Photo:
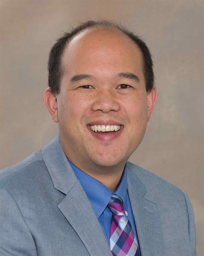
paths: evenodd
<path fill-rule="evenodd" d="M 186 194 L 127 162 L 157 100 L 152 66 L 113 22 L 58 39 L 43 100 L 59 135 L 1 173 L 1 255 L 196 255 Z"/>

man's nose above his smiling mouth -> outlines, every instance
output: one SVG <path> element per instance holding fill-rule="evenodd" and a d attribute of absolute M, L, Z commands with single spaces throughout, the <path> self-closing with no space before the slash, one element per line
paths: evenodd
<path fill-rule="evenodd" d="M 111 90 L 100 90 L 94 98 L 92 104 L 92 110 L 100 110 L 103 113 L 109 113 L 110 111 L 118 111 L 120 109 L 119 101 L 114 92 Z"/>

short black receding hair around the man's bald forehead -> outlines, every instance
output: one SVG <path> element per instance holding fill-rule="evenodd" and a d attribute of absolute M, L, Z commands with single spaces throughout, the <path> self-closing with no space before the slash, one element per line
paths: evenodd
<path fill-rule="evenodd" d="M 47 64 L 48 69 L 48 86 L 54 94 L 60 92 L 60 82 L 62 77 L 62 54 L 63 51 L 78 32 L 86 28 L 107 28 L 114 29 L 123 32 L 129 36 L 136 44 L 139 46 L 142 56 L 143 56 L 143 72 L 146 83 L 146 91 L 150 92 L 154 86 L 154 71 L 153 71 L 153 61 L 152 55 L 149 48 L 145 44 L 144 40 L 136 35 L 133 31 L 129 30 L 125 26 L 122 26 L 116 21 L 110 20 L 88 20 L 79 23 L 76 27 L 72 27 L 69 32 L 64 32 L 63 36 L 57 39 L 56 43 L 50 50 L 49 59 Z"/>

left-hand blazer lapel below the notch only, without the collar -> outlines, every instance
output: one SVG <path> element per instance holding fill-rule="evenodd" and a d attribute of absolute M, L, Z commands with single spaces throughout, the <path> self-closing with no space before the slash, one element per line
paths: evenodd
<path fill-rule="evenodd" d="M 112 256 L 106 238 L 79 181 L 58 204 L 91 256 Z"/>

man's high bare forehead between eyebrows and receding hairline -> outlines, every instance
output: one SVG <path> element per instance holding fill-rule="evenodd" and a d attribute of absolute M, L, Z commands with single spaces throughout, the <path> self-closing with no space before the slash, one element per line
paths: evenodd
<path fill-rule="evenodd" d="M 91 65 L 91 63 L 93 65 Z M 142 69 L 142 52 L 137 44 L 121 31 L 107 28 L 89 28 L 78 33 L 62 54 L 63 73 L 88 71 L 87 68 Z M 125 71 L 125 70 L 119 70 Z M 132 70 L 133 71 L 133 70 Z M 135 70 L 137 71 L 137 70 Z"/>

